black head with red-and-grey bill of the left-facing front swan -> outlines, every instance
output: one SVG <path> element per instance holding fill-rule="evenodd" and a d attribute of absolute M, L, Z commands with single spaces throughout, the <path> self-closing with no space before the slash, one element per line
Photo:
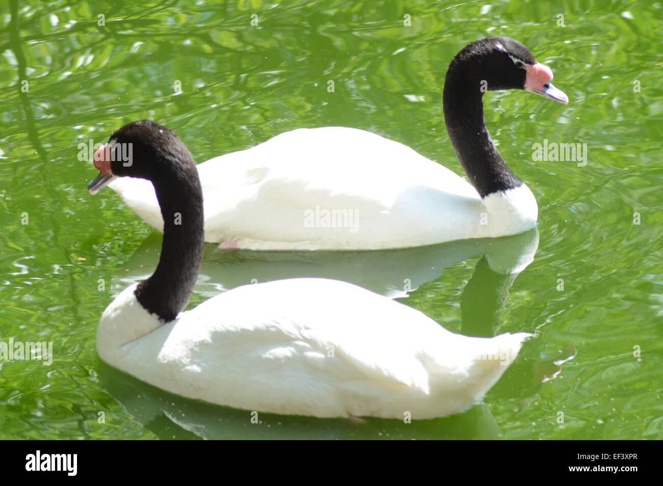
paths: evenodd
<path fill-rule="evenodd" d="M 113 132 L 94 154 L 99 177 L 88 190 L 97 193 L 115 177 L 140 177 L 158 183 L 164 177 L 181 179 L 195 173 L 196 164 L 175 132 L 151 120 L 126 124 Z"/>

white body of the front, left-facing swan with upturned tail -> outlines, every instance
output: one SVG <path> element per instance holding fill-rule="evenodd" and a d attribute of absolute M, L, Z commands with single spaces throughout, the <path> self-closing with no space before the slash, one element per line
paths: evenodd
<path fill-rule="evenodd" d="M 101 317 L 101 359 L 178 395 L 265 413 L 459 413 L 529 336 L 453 334 L 410 307 L 328 279 L 245 285 L 163 324 L 135 288 Z"/>

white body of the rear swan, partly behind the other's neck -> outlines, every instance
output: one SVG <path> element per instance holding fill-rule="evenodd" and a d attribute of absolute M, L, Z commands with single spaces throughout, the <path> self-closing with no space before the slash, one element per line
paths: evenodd
<path fill-rule="evenodd" d="M 198 165 L 205 240 L 249 250 L 379 250 L 518 234 L 536 224 L 526 185 L 481 199 L 465 179 L 377 134 L 285 132 Z M 162 230 L 152 183 L 110 184 Z"/>

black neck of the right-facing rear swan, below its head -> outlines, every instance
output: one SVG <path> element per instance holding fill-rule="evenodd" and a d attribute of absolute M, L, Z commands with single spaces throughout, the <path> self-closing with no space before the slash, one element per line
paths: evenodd
<path fill-rule="evenodd" d="M 444 121 L 453 149 L 481 197 L 522 185 L 497 152 L 483 119 L 480 75 L 452 62 L 444 83 Z M 484 81 L 485 84 L 485 81 Z"/>

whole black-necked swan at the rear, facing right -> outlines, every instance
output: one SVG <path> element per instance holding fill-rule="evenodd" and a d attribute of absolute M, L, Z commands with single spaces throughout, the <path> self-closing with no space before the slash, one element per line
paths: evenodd
<path fill-rule="evenodd" d="M 449 66 L 444 119 L 469 182 L 377 134 L 299 128 L 200 164 L 205 240 L 248 250 L 380 250 L 507 236 L 536 224 L 538 207 L 483 119 L 483 93 L 526 89 L 567 103 L 552 72 L 522 44 L 489 37 Z M 148 181 L 111 183 L 151 226 L 163 222 Z"/>

